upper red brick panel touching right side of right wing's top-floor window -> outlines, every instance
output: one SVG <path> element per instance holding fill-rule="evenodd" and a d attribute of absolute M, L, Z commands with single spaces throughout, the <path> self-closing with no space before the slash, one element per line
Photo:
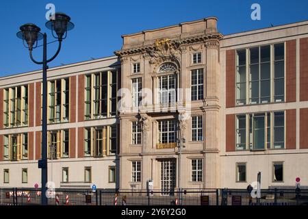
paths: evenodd
<path fill-rule="evenodd" d="M 286 101 L 296 102 L 296 40 L 287 41 L 286 50 Z"/>

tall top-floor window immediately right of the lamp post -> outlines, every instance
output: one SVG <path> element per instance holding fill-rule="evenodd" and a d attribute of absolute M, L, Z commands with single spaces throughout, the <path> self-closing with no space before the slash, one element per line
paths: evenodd
<path fill-rule="evenodd" d="M 49 81 L 49 123 L 68 122 L 69 79 Z"/>

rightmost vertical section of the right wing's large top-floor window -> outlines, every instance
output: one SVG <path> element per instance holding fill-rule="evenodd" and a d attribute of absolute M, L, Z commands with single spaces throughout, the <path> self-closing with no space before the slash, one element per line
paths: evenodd
<path fill-rule="evenodd" d="M 274 101 L 284 101 L 285 96 L 285 45 L 274 45 Z"/>

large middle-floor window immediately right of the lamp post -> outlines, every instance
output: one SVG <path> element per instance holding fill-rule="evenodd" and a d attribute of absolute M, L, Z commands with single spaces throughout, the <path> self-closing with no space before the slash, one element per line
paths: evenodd
<path fill-rule="evenodd" d="M 69 157 L 69 132 L 68 129 L 48 131 L 48 158 L 59 159 Z"/>

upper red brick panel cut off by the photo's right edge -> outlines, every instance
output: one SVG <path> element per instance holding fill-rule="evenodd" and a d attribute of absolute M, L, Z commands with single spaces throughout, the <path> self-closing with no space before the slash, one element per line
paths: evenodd
<path fill-rule="evenodd" d="M 308 38 L 300 39 L 300 101 L 308 101 Z"/>

